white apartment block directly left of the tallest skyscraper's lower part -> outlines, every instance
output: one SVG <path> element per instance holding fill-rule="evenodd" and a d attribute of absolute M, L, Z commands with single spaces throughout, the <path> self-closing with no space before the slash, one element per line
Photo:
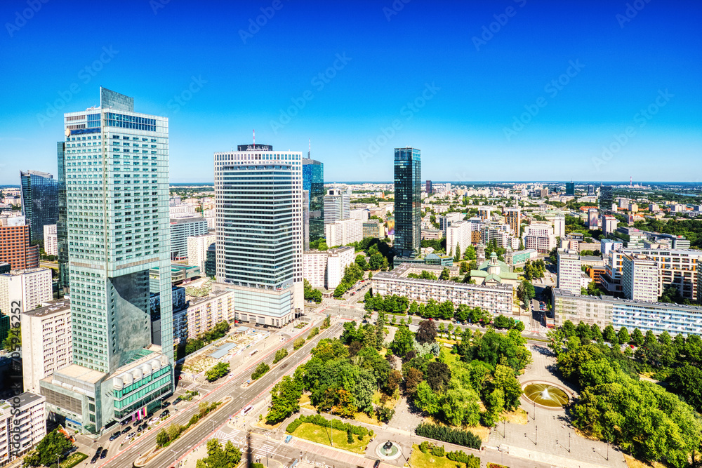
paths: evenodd
<path fill-rule="evenodd" d="M 22 380 L 25 392 L 39 394 L 39 380 L 72 363 L 71 305 L 52 301 L 20 315 Z"/>

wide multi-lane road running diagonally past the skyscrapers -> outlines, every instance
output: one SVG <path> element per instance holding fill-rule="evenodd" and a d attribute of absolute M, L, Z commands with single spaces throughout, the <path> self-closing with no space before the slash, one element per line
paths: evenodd
<path fill-rule="evenodd" d="M 239 412 L 241 408 L 253 403 L 257 400 L 259 396 L 267 393 L 268 389 L 274 385 L 279 378 L 281 378 L 286 373 L 292 373 L 293 370 L 302 363 L 305 359 L 310 356 L 310 351 L 317 342 L 322 338 L 335 337 L 341 334 L 343 330 L 340 323 L 334 323 L 331 327 L 326 330 L 322 330 L 312 340 L 305 343 L 303 347 L 298 349 L 298 351 L 291 354 L 275 368 L 272 368 L 266 375 L 256 380 L 249 387 L 241 388 L 246 380 L 251 378 L 251 372 L 253 368 L 258 366 L 261 361 L 252 362 L 248 368 L 243 370 L 237 369 L 239 372 L 234 377 L 230 377 L 229 380 L 214 389 L 209 394 L 204 396 L 204 399 L 200 401 L 223 401 L 225 396 L 232 396 L 233 400 L 226 403 L 222 409 L 220 409 L 215 415 L 210 419 L 201 422 L 197 425 L 195 429 L 190 430 L 187 434 L 180 436 L 175 442 L 171 443 L 168 448 L 161 450 L 161 453 L 152 459 L 147 465 L 147 468 L 168 468 L 172 467 L 175 460 L 179 460 L 187 452 L 190 452 L 194 446 L 197 446 L 201 441 L 206 439 L 210 434 L 216 431 L 218 427 L 225 424 L 230 415 Z M 292 340 L 282 343 L 282 346 L 291 349 Z M 272 347 L 268 354 L 263 358 L 263 362 L 271 365 L 275 351 L 280 349 L 282 346 Z M 133 442 L 130 446 L 122 448 L 117 455 L 112 455 L 109 459 L 99 460 L 100 464 L 96 464 L 96 467 L 115 467 L 115 468 L 131 468 L 133 466 L 134 460 L 141 454 L 146 453 L 150 450 L 156 443 L 156 434 L 159 432 L 161 427 L 168 427 L 169 424 L 187 424 L 188 420 L 194 413 L 197 413 L 197 406 L 199 401 L 187 403 L 187 406 L 180 408 L 178 412 L 166 420 L 165 424 L 161 423 L 159 426 L 150 429 L 147 434 L 140 436 L 137 441 Z M 185 403 L 180 403 L 184 405 Z M 112 444 L 119 443 L 121 439 L 112 442 Z M 112 452 L 112 450 L 110 450 Z M 88 454 L 92 456 L 92 454 Z"/>

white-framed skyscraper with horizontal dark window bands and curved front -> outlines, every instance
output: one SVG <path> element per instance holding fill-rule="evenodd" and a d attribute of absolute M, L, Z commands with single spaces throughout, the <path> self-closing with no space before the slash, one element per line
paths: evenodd
<path fill-rule="evenodd" d="M 237 319 L 283 326 L 304 305 L 302 153 L 239 145 L 214 163 L 217 281 Z"/>

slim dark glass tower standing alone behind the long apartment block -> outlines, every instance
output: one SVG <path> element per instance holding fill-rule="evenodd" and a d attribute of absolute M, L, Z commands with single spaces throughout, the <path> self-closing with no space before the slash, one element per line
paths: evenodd
<path fill-rule="evenodd" d="M 421 246 L 421 154 L 411 147 L 395 148 L 395 250 L 412 257 Z"/>

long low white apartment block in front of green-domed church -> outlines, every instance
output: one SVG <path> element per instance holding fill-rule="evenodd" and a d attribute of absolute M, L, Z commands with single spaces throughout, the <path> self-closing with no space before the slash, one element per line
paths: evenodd
<path fill-rule="evenodd" d="M 379 295 L 397 294 L 409 298 L 410 301 L 428 302 L 430 299 L 438 302 L 450 300 L 453 305 L 465 304 L 469 307 L 480 307 L 487 312 L 496 314 L 512 314 L 515 292 L 512 285 L 482 286 L 455 281 L 407 278 L 412 272 L 420 272 L 418 265 L 403 263 L 390 272 L 379 272 L 373 275 L 373 293 Z M 437 269 L 440 273 L 440 269 Z"/>

